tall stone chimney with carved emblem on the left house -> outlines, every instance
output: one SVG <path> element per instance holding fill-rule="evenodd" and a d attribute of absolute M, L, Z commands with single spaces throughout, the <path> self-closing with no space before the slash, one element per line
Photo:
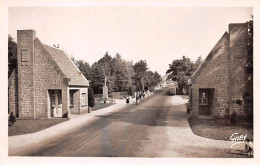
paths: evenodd
<path fill-rule="evenodd" d="M 34 30 L 17 31 L 19 118 L 33 119 L 34 112 Z"/>

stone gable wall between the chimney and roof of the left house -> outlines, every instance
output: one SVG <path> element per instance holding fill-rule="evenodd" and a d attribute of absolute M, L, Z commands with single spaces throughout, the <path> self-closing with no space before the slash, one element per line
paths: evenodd
<path fill-rule="evenodd" d="M 64 75 L 38 38 L 35 40 L 34 57 L 35 117 L 47 118 L 47 91 L 48 89 L 64 89 Z"/>

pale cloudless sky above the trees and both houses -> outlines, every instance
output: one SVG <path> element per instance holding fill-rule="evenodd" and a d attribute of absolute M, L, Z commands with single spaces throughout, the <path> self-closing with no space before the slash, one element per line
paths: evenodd
<path fill-rule="evenodd" d="M 34 29 L 42 43 L 59 44 L 90 65 L 119 53 L 146 60 L 165 75 L 169 64 L 187 56 L 207 57 L 230 23 L 251 19 L 250 7 L 9 7 L 8 32 Z"/>

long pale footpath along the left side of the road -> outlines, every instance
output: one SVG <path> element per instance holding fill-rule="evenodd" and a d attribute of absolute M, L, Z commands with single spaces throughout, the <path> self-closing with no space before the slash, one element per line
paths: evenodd
<path fill-rule="evenodd" d="M 150 94 L 148 97 L 150 97 Z M 47 129 L 41 130 L 39 132 L 25 134 L 25 135 L 17 135 L 8 137 L 8 151 L 10 156 L 15 156 L 20 152 L 26 152 L 29 148 L 33 146 L 44 143 L 51 138 L 60 136 L 65 133 L 69 133 L 70 131 L 77 130 L 82 127 L 84 124 L 88 122 L 92 122 L 98 119 L 100 115 L 108 115 L 121 108 L 126 107 L 125 99 L 115 100 L 114 105 L 111 105 L 106 108 L 102 108 L 92 113 L 86 113 L 83 115 L 74 115 L 70 120 L 66 122 L 62 122 L 60 124 L 54 125 Z"/>

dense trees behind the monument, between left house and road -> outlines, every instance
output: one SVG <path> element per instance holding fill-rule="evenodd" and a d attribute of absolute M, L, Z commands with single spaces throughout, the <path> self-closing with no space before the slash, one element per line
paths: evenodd
<path fill-rule="evenodd" d="M 92 66 L 83 60 L 78 61 L 73 57 L 72 60 L 84 76 L 90 80 L 95 94 L 102 94 L 105 78 L 110 95 L 112 92 L 127 92 L 132 95 L 134 91 L 153 88 L 161 81 L 158 72 L 148 71 L 145 60 L 134 64 L 132 61 L 122 59 L 119 53 L 112 57 L 106 52 Z"/>

